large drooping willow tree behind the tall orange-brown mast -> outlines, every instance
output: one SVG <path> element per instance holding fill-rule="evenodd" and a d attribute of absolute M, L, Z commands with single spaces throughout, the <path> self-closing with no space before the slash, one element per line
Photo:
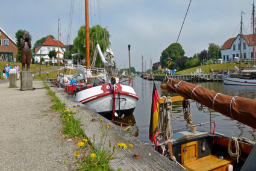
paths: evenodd
<path fill-rule="evenodd" d="M 78 30 L 78 35 L 75 40 L 73 40 L 73 49 L 75 52 L 80 52 L 83 57 L 86 57 L 86 27 L 81 26 L 80 30 Z M 102 53 L 106 51 L 108 45 L 110 45 L 109 41 L 110 34 L 107 31 L 107 28 L 102 28 L 99 25 L 93 26 L 89 28 L 89 39 L 90 39 L 90 62 L 92 61 L 93 53 L 95 51 L 97 43 L 101 47 Z M 101 67 L 101 59 L 96 58 L 95 67 Z"/>

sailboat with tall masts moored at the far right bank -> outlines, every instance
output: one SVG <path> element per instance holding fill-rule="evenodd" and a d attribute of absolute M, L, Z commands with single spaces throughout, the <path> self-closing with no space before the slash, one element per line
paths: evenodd
<path fill-rule="evenodd" d="M 230 85 L 256 85 L 256 66 L 255 66 L 255 23 L 254 23 L 254 4 L 252 9 L 252 46 L 253 46 L 253 66 L 251 69 L 241 70 L 241 59 L 242 59 L 242 13 L 241 13 L 241 22 L 240 22 L 240 63 L 239 63 L 239 75 L 228 74 L 223 75 L 223 83 Z M 229 61 L 230 66 L 231 61 Z M 229 67 L 228 67 L 229 68 Z"/>

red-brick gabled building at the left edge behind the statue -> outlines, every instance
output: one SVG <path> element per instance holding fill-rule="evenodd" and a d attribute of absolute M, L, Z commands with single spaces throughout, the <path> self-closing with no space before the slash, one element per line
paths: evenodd
<path fill-rule="evenodd" d="M 0 27 L 0 61 L 13 61 L 17 58 L 17 43 Z"/>

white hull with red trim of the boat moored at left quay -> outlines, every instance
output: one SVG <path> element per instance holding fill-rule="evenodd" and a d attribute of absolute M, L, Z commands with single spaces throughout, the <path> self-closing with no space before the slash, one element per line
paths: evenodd
<path fill-rule="evenodd" d="M 136 103 L 139 100 L 139 96 L 134 92 L 133 87 L 122 84 L 115 84 L 116 89 L 120 92 L 120 114 L 133 113 Z M 118 98 L 118 93 L 116 93 Z M 113 85 L 101 84 L 89 89 L 81 90 L 75 95 L 75 99 L 86 107 L 102 114 L 103 116 L 111 116 L 113 108 Z M 119 114 L 119 99 L 115 99 L 115 111 Z"/>

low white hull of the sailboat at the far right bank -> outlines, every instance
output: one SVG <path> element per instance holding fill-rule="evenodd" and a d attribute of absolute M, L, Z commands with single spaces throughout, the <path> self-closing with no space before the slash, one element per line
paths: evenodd
<path fill-rule="evenodd" d="M 230 85 L 254 85 L 256 86 L 256 79 L 241 79 L 241 78 L 231 78 L 228 76 L 223 76 L 224 84 Z"/>

